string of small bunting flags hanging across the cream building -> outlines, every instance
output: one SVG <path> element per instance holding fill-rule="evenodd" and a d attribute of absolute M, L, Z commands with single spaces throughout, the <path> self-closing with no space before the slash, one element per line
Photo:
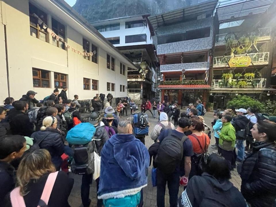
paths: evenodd
<path fill-rule="evenodd" d="M 33 13 L 32 16 L 34 16 L 35 18 L 38 19 L 37 22 L 38 22 L 39 26 L 41 26 L 44 30 L 46 30 L 49 34 L 51 34 L 53 38 L 55 38 L 57 41 L 64 42 L 64 39 L 63 39 L 63 38 L 60 38 L 57 34 L 55 34 L 55 32 L 54 32 L 53 30 L 51 30 L 51 29 L 43 22 L 43 20 L 41 20 L 41 19 L 39 18 L 39 16 L 37 16 L 35 13 Z M 95 51 L 95 50 L 94 50 L 93 52 L 89 52 L 89 53 L 88 53 L 88 52 L 79 51 L 79 50 L 75 49 L 74 47 L 71 47 L 70 45 L 68 45 L 68 43 L 66 43 L 66 42 L 64 42 L 64 45 L 65 45 L 66 48 L 68 48 L 68 49 L 71 48 L 72 51 L 73 51 L 74 53 L 78 53 L 79 55 L 94 56 L 94 55 L 97 53 L 97 51 Z"/>

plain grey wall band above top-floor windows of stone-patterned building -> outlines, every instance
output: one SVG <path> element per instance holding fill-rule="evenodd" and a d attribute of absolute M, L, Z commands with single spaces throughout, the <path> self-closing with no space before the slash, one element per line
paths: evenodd
<path fill-rule="evenodd" d="M 158 27 L 157 35 L 169 35 L 169 34 L 178 34 L 184 33 L 190 30 L 196 30 L 201 28 L 210 27 L 210 37 L 213 35 L 213 18 L 204 18 L 200 20 L 194 20 L 190 22 L 182 22 L 179 24 L 173 24 L 170 26 L 161 26 Z"/>

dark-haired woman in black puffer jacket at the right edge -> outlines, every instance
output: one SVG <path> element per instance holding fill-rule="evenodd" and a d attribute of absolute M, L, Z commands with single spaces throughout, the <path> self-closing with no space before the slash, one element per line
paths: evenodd
<path fill-rule="evenodd" d="M 241 166 L 241 193 L 251 207 L 270 207 L 276 199 L 276 123 L 259 120 L 250 131 L 256 141 Z"/>

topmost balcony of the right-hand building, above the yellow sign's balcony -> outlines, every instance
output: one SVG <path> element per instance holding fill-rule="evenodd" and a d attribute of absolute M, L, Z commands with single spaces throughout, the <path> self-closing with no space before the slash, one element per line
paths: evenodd
<path fill-rule="evenodd" d="M 252 32 L 241 31 L 241 32 L 231 32 L 226 34 L 217 34 L 215 46 L 225 45 L 227 39 L 229 38 L 234 41 L 237 41 L 243 36 L 253 36 L 253 35 L 258 37 L 258 42 L 269 41 L 271 38 L 271 28 L 270 27 L 260 28 Z"/>

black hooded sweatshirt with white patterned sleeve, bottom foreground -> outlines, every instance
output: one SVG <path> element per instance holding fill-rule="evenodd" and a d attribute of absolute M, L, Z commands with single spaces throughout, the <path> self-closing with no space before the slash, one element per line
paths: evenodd
<path fill-rule="evenodd" d="M 229 180 L 218 181 L 208 173 L 193 176 L 183 191 L 180 207 L 246 207 L 241 192 Z"/>

